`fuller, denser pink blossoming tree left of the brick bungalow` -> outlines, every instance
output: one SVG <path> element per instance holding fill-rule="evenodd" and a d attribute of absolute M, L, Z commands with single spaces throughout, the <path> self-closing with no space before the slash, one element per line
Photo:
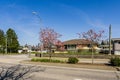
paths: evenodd
<path fill-rule="evenodd" d="M 51 48 L 58 41 L 59 37 L 61 37 L 61 34 L 57 33 L 54 29 L 48 27 L 40 29 L 40 42 L 42 42 L 43 48 L 49 50 L 50 58 Z"/>

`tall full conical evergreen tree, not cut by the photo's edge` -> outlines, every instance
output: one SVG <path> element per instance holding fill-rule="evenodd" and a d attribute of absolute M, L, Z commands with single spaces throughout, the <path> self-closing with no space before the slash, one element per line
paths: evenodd
<path fill-rule="evenodd" d="M 6 32 L 7 36 L 7 51 L 9 53 L 15 53 L 19 49 L 18 37 L 15 31 L 9 28 Z"/>

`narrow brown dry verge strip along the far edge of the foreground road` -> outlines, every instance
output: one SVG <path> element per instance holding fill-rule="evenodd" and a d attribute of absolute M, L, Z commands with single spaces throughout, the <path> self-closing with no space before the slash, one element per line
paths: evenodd
<path fill-rule="evenodd" d="M 67 64 L 67 63 L 51 63 L 51 62 L 33 62 L 33 61 L 22 61 L 21 63 L 44 65 L 44 66 L 68 67 L 68 68 L 85 68 L 85 69 L 118 71 L 116 67 L 112 67 L 106 64 L 91 64 L 91 63 Z"/>

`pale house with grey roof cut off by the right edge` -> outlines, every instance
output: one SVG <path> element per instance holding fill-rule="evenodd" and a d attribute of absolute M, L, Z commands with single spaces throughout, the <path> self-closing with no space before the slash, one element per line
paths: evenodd
<path fill-rule="evenodd" d="M 112 38 L 113 51 L 115 55 L 120 55 L 120 38 Z"/>

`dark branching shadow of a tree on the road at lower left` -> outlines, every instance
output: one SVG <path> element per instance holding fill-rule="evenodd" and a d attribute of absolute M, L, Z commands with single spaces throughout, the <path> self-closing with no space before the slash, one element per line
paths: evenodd
<path fill-rule="evenodd" d="M 40 67 L 22 65 L 0 67 L 0 80 L 32 80 L 30 74 L 44 70 Z"/>

